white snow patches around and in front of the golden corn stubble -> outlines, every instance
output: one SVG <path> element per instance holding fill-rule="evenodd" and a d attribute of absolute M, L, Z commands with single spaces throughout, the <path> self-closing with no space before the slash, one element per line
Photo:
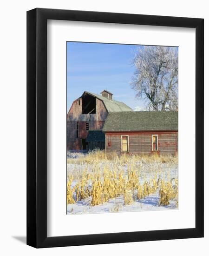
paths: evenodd
<path fill-rule="evenodd" d="M 68 154 L 68 158 L 79 158 L 84 154 L 81 153 L 71 153 Z M 111 162 L 109 163 L 111 164 Z M 112 163 L 114 164 L 114 163 Z M 144 178 L 149 181 L 154 178 L 156 172 L 152 172 L 153 168 L 159 169 L 158 177 L 163 177 L 166 179 L 173 179 L 178 177 L 178 166 L 176 164 L 168 165 L 166 163 L 137 163 L 141 168 L 141 174 L 139 181 L 144 182 Z M 102 168 L 104 162 L 100 162 L 99 166 Z M 124 170 L 124 173 L 127 172 L 127 165 L 118 166 L 118 170 Z M 91 173 L 92 165 L 91 164 L 67 164 L 67 175 L 73 175 L 73 181 L 71 187 L 73 188 L 78 180 L 82 177 L 83 171 L 88 171 Z M 89 187 L 91 187 L 91 182 L 89 182 Z M 75 192 L 74 192 L 75 198 Z M 171 210 L 176 209 L 176 202 L 170 201 L 169 205 L 159 205 L 159 191 L 155 194 L 150 194 L 144 199 L 138 200 L 134 198 L 131 205 L 124 204 L 124 196 L 120 195 L 117 198 L 110 199 L 108 202 L 105 202 L 100 205 L 91 206 L 91 196 L 88 199 L 78 201 L 74 204 L 67 205 L 67 214 L 87 214 L 87 213 L 108 213 L 108 212 L 131 212 L 131 211 L 150 211 L 150 210 Z"/>

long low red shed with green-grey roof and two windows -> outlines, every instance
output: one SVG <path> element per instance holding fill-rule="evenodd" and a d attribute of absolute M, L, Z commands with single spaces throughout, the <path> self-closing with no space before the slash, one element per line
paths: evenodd
<path fill-rule="evenodd" d="M 107 152 L 176 154 L 178 151 L 178 112 L 109 113 L 103 132 Z"/>

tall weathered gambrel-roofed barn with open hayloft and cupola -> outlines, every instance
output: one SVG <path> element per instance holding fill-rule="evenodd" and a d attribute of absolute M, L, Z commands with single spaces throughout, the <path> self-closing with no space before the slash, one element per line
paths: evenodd
<path fill-rule="evenodd" d="M 123 102 L 113 100 L 113 94 L 107 90 L 101 95 L 85 91 L 73 101 L 67 113 L 67 150 L 104 149 L 102 129 L 107 116 L 126 111 L 133 110 Z"/>

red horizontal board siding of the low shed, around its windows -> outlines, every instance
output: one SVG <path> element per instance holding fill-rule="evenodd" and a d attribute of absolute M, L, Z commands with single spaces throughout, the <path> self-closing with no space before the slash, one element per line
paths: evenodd
<path fill-rule="evenodd" d="M 158 135 L 158 152 L 176 154 L 178 151 L 178 132 L 112 132 L 105 133 L 106 152 L 121 152 L 121 135 L 129 137 L 129 153 L 151 154 L 152 135 Z"/>

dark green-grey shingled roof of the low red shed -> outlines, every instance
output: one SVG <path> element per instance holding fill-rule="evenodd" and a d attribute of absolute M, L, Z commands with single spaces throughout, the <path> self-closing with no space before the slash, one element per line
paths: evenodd
<path fill-rule="evenodd" d="M 133 111 L 109 113 L 103 131 L 178 130 L 176 111 Z"/>

